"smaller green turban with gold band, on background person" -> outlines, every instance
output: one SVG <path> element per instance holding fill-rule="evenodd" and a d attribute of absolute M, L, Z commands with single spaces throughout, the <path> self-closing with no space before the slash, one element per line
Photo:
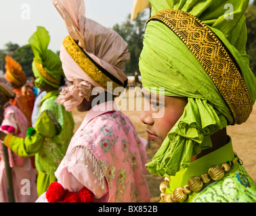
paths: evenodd
<path fill-rule="evenodd" d="M 59 55 L 49 50 L 50 36 L 45 28 L 37 26 L 37 31 L 29 38 L 33 53 L 35 55 L 32 63 L 35 83 L 37 86 L 43 86 L 45 83 L 59 88 L 64 79 L 62 62 Z"/>

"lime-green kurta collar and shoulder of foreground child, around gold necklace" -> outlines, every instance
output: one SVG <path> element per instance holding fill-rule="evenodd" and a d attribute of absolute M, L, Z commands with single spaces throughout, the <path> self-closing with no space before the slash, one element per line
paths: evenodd
<path fill-rule="evenodd" d="M 208 173 L 212 165 L 221 165 L 233 159 L 234 151 L 230 138 L 230 142 L 225 146 L 196 159 L 188 168 L 171 176 L 170 188 L 167 188 L 165 193 L 172 194 L 175 188 L 188 184 L 190 177 L 195 175 L 200 177 Z M 211 180 L 208 184 L 204 184 L 200 192 L 188 194 L 186 202 L 256 202 L 256 185 L 242 166 L 236 163 L 230 171 L 225 173 L 222 180 Z"/>

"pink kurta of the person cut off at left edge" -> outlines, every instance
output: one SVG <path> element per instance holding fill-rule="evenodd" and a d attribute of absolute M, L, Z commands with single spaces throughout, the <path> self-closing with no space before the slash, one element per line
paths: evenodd
<path fill-rule="evenodd" d="M 13 134 L 25 138 L 28 121 L 18 107 L 11 102 L 3 106 L 3 122 L 1 130 L 7 134 Z M 1 141 L 0 141 L 1 142 Z M 14 185 L 14 197 L 16 202 L 35 202 L 37 200 L 37 186 L 35 184 L 35 171 L 28 157 L 20 157 L 8 148 L 9 165 L 12 167 L 12 182 Z M 0 202 L 9 202 L 7 195 L 7 180 L 5 175 L 5 163 L 3 151 L 0 145 Z"/>

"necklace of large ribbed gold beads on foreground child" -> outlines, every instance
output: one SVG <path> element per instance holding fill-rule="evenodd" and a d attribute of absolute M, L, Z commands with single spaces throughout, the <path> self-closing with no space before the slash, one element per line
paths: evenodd
<path fill-rule="evenodd" d="M 212 180 L 219 181 L 224 177 L 225 172 L 230 171 L 231 167 L 238 161 L 235 157 L 233 161 L 228 163 L 222 163 L 222 165 L 213 165 L 208 169 L 208 174 L 202 174 L 198 176 L 192 176 L 188 180 L 186 186 L 178 187 L 173 190 L 173 194 L 165 194 L 165 190 L 169 188 L 169 178 L 165 177 L 165 181 L 161 182 L 159 189 L 161 191 L 161 202 L 184 202 L 192 191 L 199 192 L 203 188 L 203 184 L 207 184 Z"/>

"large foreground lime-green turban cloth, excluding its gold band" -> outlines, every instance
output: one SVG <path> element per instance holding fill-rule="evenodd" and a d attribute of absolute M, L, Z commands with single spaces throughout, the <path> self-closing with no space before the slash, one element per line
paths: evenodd
<path fill-rule="evenodd" d="M 206 24 L 234 57 L 255 103 L 256 78 L 245 51 L 247 28 L 244 10 L 247 0 L 151 0 L 152 15 L 163 9 L 186 11 Z M 225 5 L 232 5 L 232 19 Z M 187 97 L 182 117 L 165 138 L 161 148 L 146 165 L 156 175 L 175 175 L 190 165 L 192 155 L 210 148 L 210 136 L 234 124 L 232 111 L 198 59 L 167 25 L 151 20 L 146 26 L 140 55 L 142 84 L 146 90 L 173 97 Z M 160 87 L 165 87 L 161 90 Z"/>

